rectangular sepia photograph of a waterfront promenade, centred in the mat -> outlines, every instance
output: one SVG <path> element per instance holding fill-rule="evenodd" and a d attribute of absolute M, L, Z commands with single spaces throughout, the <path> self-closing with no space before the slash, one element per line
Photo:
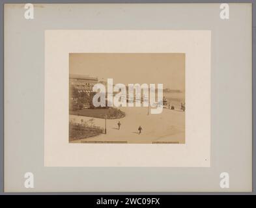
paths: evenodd
<path fill-rule="evenodd" d="M 185 53 L 70 53 L 69 142 L 185 144 Z"/>

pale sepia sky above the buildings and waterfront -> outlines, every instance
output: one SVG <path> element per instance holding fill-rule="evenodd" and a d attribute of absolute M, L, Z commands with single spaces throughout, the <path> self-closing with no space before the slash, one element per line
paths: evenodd
<path fill-rule="evenodd" d="M 164 84 L 185 90 L 184 53 L 70 53 L 70 73 L 113 83 Z"/>

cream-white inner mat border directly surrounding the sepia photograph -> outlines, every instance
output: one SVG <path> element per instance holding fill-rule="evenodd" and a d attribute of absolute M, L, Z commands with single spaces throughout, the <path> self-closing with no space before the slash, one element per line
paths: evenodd
<path fill-rule="evenodd" d="M 210 47 L 211 31 L 45 31 L 44 165 L 209 167 Z M 69 143 L 69 53 L 186 53 L 185 144 Z"/>

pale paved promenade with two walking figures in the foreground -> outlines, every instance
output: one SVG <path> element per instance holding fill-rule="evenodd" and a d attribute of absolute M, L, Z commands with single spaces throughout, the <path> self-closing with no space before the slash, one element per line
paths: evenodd
<path fill-rule="evenodd" d="M 107 134 L 76 140 L 83 141 L 122 141 L 127 143 L 152 143 L 152 142 L 185 142 L 185 112 L 164 109 L 162 114 L 147 115 L 147 107 L 122 107 L 126 116 L 121 119 L 107 120 Z M 87 121 L 90 117 L 70 115 L 75 122 L 81 119 Z M 121 128 L 118 130 L 118 122 Z M 105 120 L 94 118 L 94 125 L 105 126 Z M 142 132 L 139 135 L 139 125 Z"/>

